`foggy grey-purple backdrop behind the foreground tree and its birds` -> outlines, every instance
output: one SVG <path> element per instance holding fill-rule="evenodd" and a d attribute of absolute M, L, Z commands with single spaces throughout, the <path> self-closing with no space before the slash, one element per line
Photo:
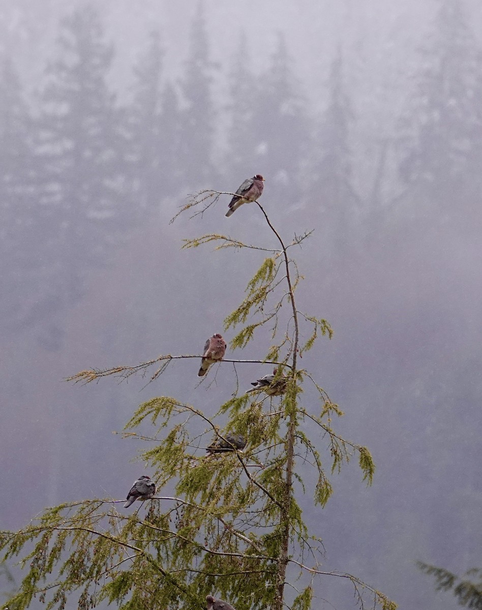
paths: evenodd
<path fill-rule="evenodd" d="M 301 364 L 377 467 L 370 488 L 355 461 L 325 509 L 301 503 L 323 569 L 401 608 L 456 606 L 415 562 L 482 561 L 481 26 L 478 0 L 0 1 L 2 528 L 124 498 L 141 447 L 112 432 L 143 401 L 209 415 L 230 397 L 228 364 L 209 390 L 190 360 L 148 386 L 63 379 L 222 332 L 262 258 L 181 240 L 272 235 L 255 206 L 226 219 L 228 196 L 168 221 L 261 173 L 284 238 L 314 229 L 292 251 L 298 306 L 335 334 Z M 326 577 L 318 607 L 355 607 L 348 589 Z"/>

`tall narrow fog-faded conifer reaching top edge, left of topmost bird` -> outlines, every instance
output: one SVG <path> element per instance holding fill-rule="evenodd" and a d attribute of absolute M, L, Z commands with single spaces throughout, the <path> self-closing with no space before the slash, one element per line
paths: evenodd
<path fill-rule="evenodd" d="M 186 184 L 207 187 L 213 184 L 215 111 L 210 91 L 212 68 L 204 9 L 200 2 L 191 26 L 189 54 L 181 82 L 186 108 L 182 112 L 178 165 L 182 167 Z"/>

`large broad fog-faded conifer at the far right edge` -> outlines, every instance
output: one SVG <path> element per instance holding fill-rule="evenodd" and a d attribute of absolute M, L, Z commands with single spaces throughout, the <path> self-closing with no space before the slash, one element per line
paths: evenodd
<path fill-rule="evenodd" d="M 482 162 L 480 53 L 459 0 L 439 1 L 435 31 L 420 58 L 403 121 L 400 174 L 411 213 L 422 217 L 436 205 L 444 218 L 458 206 L 467 209 L 467 197 L 482 184 L 474 171 Z"/>

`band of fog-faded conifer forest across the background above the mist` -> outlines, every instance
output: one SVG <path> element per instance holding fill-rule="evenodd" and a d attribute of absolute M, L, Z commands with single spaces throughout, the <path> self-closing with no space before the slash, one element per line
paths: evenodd
<path fill-rule="evenodd" d="M 257 75 L 241 40 L 224 76 L 229 104 L 220 106 L 201 9 L 179 81 L 165 79 L 153 32 L 124 104 L 107 84 L 115 48 L 93 5 L 59 24 L 57 51 L 34 96 L 24 95 L 14 58 L 2 57 L 2 331 L 47 324 L 45 346 L 55 350 L 62 312 L 132 228 L 167 200 L 182 202 L 201 188 L 235 190 L 258 172 L 284 213 L 329 226 L 334 249 L 369 244 L 374 233 L 417 240 L 437 229 L 434 219 L 455 232 L 479 230 L 481 215 L 471 210 L 480 207 L 482 182 L 482 59 L 459 2 L 440 3 L 419 54 L 411 89 L 400 92 L 406 103 L 396 129 L 390 137 L 367 134 L 369 146 L 354 142 L 358 117 L 340 50 L 328 102 L 315 115 L 285 38 Z M 367 148 L 375 151 L 369 162 L 360 158 Z M 369 171 L 361 176 L 360 167 Z"/>

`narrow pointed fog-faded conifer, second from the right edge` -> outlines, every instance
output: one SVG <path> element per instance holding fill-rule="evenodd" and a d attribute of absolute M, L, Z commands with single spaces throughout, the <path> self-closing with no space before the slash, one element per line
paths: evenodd
<path fill-rule="evenodd" d="M 328 106 L 313 138 L 313 154 L 308 163 L 308 205 L 320 210 L 337 248 L 359 220 L 359 198 L 352 184 L 349 143 L 353 110 L 343 82 L 343 60 L 339 50 L 328 79 Z"/>

